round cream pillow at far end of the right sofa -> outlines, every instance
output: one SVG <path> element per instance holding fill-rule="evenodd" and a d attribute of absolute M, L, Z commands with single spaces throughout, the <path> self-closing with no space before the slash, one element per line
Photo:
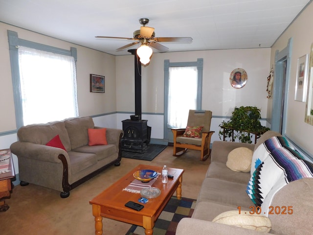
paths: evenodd
<path fill-rule="evenodd" d="M 246 147 L 235 148 L 227 156 L 226 166 L 233 171 L 249 172 L 253 151 Z"/>

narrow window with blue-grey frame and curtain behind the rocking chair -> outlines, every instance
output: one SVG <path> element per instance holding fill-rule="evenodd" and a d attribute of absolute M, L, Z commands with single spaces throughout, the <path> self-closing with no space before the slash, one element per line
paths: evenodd
<path fill-rule="evenodd" d="M 164 139 L 173 141 L 171 128 L 186 127 L 189 109 L 201 109 L 203 59 L 164 60 Z"/>

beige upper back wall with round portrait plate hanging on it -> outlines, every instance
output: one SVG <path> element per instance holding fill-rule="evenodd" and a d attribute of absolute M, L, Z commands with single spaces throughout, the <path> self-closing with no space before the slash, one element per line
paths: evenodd
<path fill-rule="evenodd" d="M 270 48 L 205 50 L 154 53 L 148 66 L 142 67 L 142 112 L 163 113 L 164 60 L 191 62 L 203 58 L 202 109 L 213 116 L 230 116 L 234 107 L 257 106 L 262 118 L 267 112 L 267 76 Z M 248 80 L 242 89 L 229 83 L 232 70 L 243 68 Z M 117 111 L 134 112 L 134 55 L 116 57 Z M 127 97 L 130 94 L 130 98 Z M 181 91 L 188 95 L 188 90 Z"/>

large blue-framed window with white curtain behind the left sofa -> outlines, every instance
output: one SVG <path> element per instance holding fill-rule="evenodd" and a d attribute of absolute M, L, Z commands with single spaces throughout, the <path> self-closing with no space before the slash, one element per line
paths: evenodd
<path fill-rule="evenodd" d="M 50 47 L 7 32 L 17 128 L 77 117 L 76 48 Z"/>

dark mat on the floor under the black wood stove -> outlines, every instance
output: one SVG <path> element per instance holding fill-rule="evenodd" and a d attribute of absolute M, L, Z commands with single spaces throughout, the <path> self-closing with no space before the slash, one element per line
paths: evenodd
<path fill-rule="evenodd" d="M 122 157 L 152 161 L 166 147 L 167 145 L 162 144 L 149 144 L 147 151 L 144 153 L 122 151 Z"/>

